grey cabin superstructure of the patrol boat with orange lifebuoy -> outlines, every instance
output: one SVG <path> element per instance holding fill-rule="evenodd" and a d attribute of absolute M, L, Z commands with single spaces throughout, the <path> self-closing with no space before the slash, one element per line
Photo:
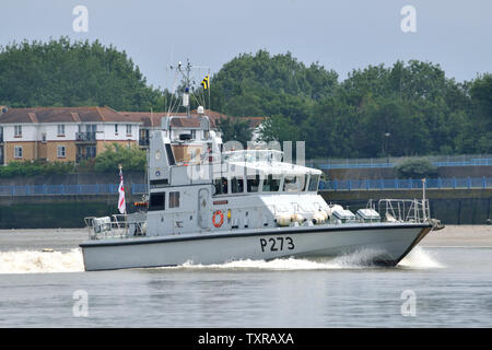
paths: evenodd
<path fill-rule="evenodd" d="M 329 208 L 317 195 L 320 171 L 282 162 L 280 151 L 223 151 L 207 116 L 200 125 L 199 140 L 171 140 L 171 118 L 151 135 L 148 236 L 313 225 L 327 219 Z"/>

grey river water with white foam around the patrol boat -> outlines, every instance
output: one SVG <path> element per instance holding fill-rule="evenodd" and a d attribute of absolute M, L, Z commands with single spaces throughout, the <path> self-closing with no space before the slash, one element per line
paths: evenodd
<path fill-rule="evenodd" d="M 0 240 L 0 327 L 492 326 L 491 247 L 84 272 L 77 236 L 46 236 Z"/>

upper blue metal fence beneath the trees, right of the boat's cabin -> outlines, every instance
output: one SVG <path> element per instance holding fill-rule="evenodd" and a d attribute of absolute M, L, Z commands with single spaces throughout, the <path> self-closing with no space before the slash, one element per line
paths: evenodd
<path fill-rule="evenodd" d="M 424 158 L 377 158 L 377 159 L 320 159 L 306 161 L 307 166 L 321 170 L 330 168 L 380 168 L 395 167 L 411 160 L 426 159 L 434 166 L 483 166 L 492 165 L 492 154 L 465 155 L 430 155 Z"/>

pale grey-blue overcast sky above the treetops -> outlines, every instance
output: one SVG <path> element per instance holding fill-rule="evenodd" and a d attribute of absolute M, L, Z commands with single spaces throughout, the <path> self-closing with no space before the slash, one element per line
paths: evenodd
<path fill-rule="evenodd" d="M 77 33 L 77 5 L 89 11 Z M 417 32 L 400 14 L 415 9 Z M 0 45 L 13 40 L 99 39 L 126 50 L 149 83 L 168 86 L 178 60 L 216 72 L 242 52 L 266 48 L 319 61 L 344 79 L 352 69 L 419 59 L 458 81 L 492 71 L 490 0 L 2 0 Z"/>

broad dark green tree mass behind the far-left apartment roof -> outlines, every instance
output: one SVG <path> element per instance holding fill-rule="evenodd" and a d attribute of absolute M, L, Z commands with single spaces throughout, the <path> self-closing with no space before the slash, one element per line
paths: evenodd
<path fill-rule="evenodd" d="M 0 105 L 156 110 L 162 100 L 125 51 L 98 40 L 61 37 L 0 47 Z"/>

